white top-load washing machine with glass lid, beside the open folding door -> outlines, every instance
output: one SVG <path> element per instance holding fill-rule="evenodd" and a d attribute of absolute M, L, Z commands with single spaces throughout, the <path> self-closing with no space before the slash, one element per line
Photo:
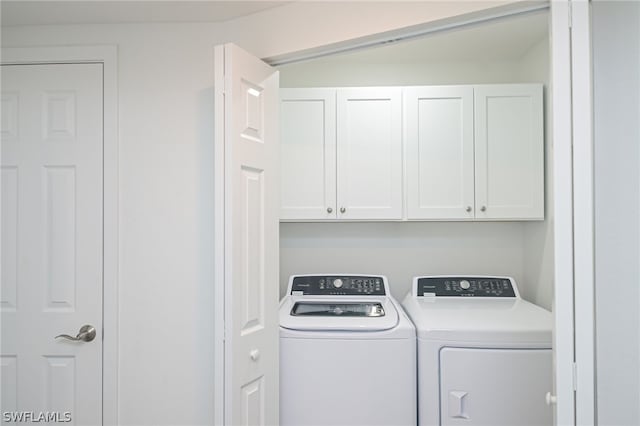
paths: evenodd
<path fill-rule="evenodd" d="M 296 275 L 280 302 L 280 425 L 416 425 L 416 335 L 384 276 Z"/>

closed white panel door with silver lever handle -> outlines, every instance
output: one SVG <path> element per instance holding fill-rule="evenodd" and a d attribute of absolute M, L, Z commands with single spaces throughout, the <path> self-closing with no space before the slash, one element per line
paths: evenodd
<path fill-rule="evenodd" d="M 102 90 L 101 64 L 2 66 L 3 424 L 102 422 Z"/>

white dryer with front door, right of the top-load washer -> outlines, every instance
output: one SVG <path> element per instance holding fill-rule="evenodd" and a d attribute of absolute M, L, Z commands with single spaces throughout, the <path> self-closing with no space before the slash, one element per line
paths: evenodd
<path fill-rule="evenodd" d="M 427 276 L 403 306 L 418 336 L 420 426 L 551 426 L 551 313 L 509 277 Z"/>

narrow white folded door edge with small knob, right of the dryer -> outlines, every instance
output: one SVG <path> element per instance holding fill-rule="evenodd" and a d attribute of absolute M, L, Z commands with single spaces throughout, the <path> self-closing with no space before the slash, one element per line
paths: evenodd
<path fill-rule="evenodd" d="M 574 198 L 570 0 L 551 2 L 555 424 L 574 425 Z M 553 393 L 553 392 L 552 392 Z M 552 396 L 553 397 L 553 396 Z M 549 403 L 552 399 L 549 398 Z"/>

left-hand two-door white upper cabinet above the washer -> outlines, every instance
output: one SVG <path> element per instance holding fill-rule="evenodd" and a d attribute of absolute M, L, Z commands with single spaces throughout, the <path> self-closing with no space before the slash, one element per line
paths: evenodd
<path fill-rule="evenodd" d="M 400 88 L 282 89 L 282 220 L 402 219 Z"/>

